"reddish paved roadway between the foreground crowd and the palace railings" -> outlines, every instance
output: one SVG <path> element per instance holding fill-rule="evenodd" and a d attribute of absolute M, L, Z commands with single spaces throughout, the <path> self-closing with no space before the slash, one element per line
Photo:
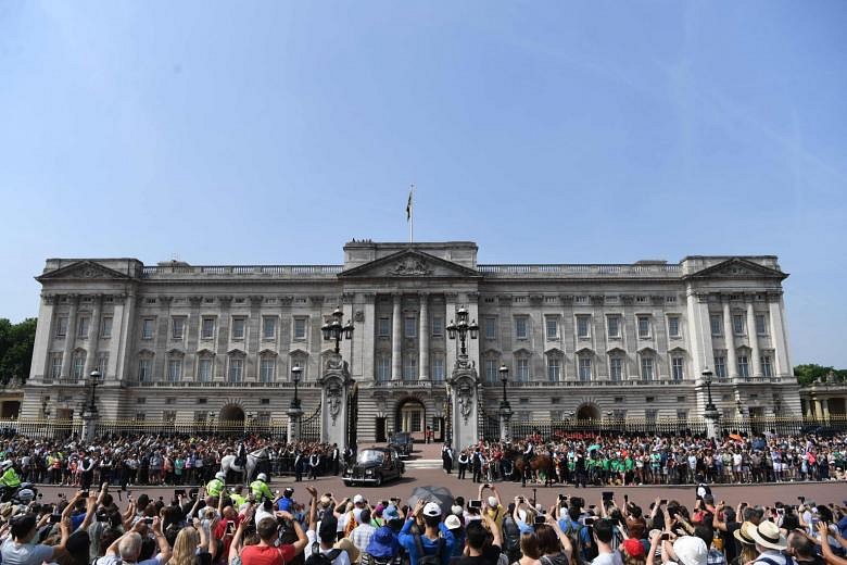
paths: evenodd
<path fill-rule="evenodd" d="M 441 444 L 415 445 L 415 453 L 407 461 L 406 475 L 400 479 L 384 484 L 382 487 L 355 486 L 346 487 L 341 477 L 325 476 L 317 480 L 304 480 L 294 482 L 293 477 L 274 477 L 271 490 L 294 487 L 294 498 L 301 502 L 306 501 L 308 494 L 305 487 L 314 485 L 319 493 L 331 492 L 337 499 L 353 497 L 362 493 L 370 502 L 376 503 L 387 500 L 391 497 L 400 497 L 404 501 L 412 494 L 416 487 L 438 486 L 448 489 L 454 497 L 462 495 L 466 500 L 476 499 L 479 485 L 471 482 L 471 474 L 468 478 L 459 480 L 456 473 L 446 475 L 441 470 L 441 460 L 437 459 L 440 453 Z M 528 484 L 521 488 L 520 482 L 495 482 L 494 486 L 501 493 L 505 504 L 514 500 L 517 495 L 523 495 L 528 500 L 533 497 L 533 485 Z M 188 489 L 189 487 L 178 487 Z M 813 500 L 818 503 L 835 502 L 842 504 L 847 499 L 847 484 L 840 481 L 829 482 L 780 482 L 768 485 L 715 485 L 711 487 L 717 501 L 725 501 L 728 504 L 736 505 L 738 502 L 746 502 L 751 505 L 769 505 L 775 501 L 786 504 L 797 504 L 797 497 L 805 497 L 806 500 Z M 116 491 L 118 489 L 112 489 Z M 615 492 L 615 499 L 619 504 L 623 503 L 623 494 L 629 500 L 637 503 L 643 508 L 647 508 L 649 503 L 656 498 L 668 500 L 679 500 L 681 503 L 691 506 L 694 503 L 693 486 L 642 486 L 642 487 L 589 487 L 576 489 L 572 486 L 556 485 L 553 487 L 536 486 L 534 494 L 538 501 L 545 506 L 549 506 L 556 500 L 559 493 L 568 495 L 578 495 L 585 499 L 586 504 L 599 504 L 603 491 Z M 55 500 L 56 492 L 73 494 L 76 489 L 72 487 L 40 487 L 47 501 Z M 162 497 L 169 501 L 173 498 L 174 487 L 131 487 L 132 494 L 144 492 L 152 500 Z M 125 493 L 122 494 L 126 500 Z"/>

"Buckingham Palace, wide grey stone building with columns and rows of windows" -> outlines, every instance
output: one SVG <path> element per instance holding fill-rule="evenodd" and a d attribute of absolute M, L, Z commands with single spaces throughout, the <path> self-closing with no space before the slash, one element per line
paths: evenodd
<path fill-rule="evenodd" d="M 514 422 L 796 416 L 801 406 L 773 255 L 678 263 L 479 264 L 469 241 L 353 240 L 336 265 L 144 265 L 50 259 L 21 415 L 77 418 L 98 371 L 102 417 L 286 418 L 299 367 L 303 413 L 319 410 L 337 309 L 361 441 L 443 437 L 459 310 L 481 413 L 503 394 Z M 501 382 L 508 369 L 505 387 Z"/>

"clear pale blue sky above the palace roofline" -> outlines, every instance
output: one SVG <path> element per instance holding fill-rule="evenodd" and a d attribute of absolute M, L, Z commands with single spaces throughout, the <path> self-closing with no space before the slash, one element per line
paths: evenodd
<path fill-rule="evenodd" d="M 0 316 L 48 256 L 778 254 L 847 366 L 847 2 L 0 2 Z"/>

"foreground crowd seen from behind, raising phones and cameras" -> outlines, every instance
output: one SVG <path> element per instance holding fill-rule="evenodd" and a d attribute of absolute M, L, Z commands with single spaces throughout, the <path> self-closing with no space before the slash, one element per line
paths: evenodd
<path fill-rule="evenodd" d="M 443 494 L 366 500 L 312 486 L 271 494 L 201 488 L 173 500 L 115 499 L 109 485 L 65 500 L 0 504 L 3 565 L 845 565 L 847 508 L 732 506 L 697 490 L 649 507 L 551 492 L 501 500 Z M 592 503 L 593 502 L 593 503 Z M 847 504 L 847 503 L 846 503 Z"/>

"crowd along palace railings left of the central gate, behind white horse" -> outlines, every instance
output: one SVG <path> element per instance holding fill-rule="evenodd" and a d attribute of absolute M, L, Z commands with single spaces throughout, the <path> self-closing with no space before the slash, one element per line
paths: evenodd
<path fill-rule="evenodd" d="M 220 470 L 222 459 L 241 445 L 245 451 L 264 448 L 265 470 L 270 475 L 338 474 L 345 456 L 327 443 L 286 443 L 263 437 L 236 441 L 178 435 L 104 436 L 84 443 L 73 437 L 13 436 L 0 443 L 0 462 L 12 462 L 21 480 L 46 485 L 203 485 Z"/>

